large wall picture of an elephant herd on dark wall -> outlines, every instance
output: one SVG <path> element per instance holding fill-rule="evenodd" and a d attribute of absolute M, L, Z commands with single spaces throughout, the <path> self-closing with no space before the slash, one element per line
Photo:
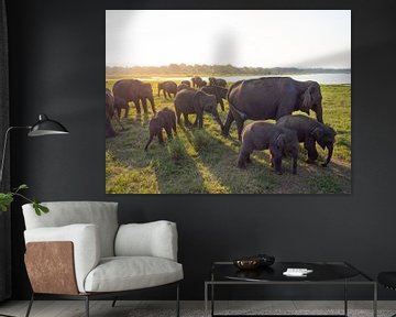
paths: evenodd
<path fill-rule="evenodd" d="M 106 11 L 106 193 L 350 194 L 350 10 Z"/>

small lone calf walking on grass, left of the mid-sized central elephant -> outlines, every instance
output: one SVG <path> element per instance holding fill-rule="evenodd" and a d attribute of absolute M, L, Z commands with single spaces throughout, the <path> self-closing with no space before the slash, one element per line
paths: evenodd
<path fill-rule="evenodd" d="M 160 110 L 156 116 L 150 120 L 150 138 L 146 146 L 144 147 L 145 151 L 147 151 L 148 145 L 155 135 L 158 136 L 160 144 L 164 142 L 163 129 L 165 129 L 168 139 L 172 139 L 172 130 L 174 131 L 175 135 L 177 135 L 175 112 L 167 107 Z"/>

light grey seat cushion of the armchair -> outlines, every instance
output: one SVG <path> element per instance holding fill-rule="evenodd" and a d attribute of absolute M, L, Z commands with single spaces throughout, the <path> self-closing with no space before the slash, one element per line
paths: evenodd
<path fill-rule="evenodd" d="M 119 292 L 183 280 L 183 265 L 154 256 L 105 258 L 86 277 L 86 292 Z"/>

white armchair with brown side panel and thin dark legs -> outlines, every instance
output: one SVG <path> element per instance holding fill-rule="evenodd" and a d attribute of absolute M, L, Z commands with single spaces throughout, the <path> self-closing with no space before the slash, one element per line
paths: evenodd
<path fill-rule="evenodd" d="M 31 204 L 23 216 L 25 265 L 34 298 L 56 294 L 86 300 L 118 297 L 133 289 L 175 283 L 179 316 L 177 230 L 169 221 L 118 225 L 117 203 L 44 203 L 50 212 L 36 216 Z M 116 300 L 113 302 L 113 306 Z"/>

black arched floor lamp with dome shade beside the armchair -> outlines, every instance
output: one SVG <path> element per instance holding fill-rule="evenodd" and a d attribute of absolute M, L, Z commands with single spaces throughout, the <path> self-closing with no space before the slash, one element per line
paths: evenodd
<path fill-rule="evenodd" d="M 2 158 L 1 158 L 1 166 L 0 166 L 0 185 L 2 183 L 2 176 L 3 176 L 3 170 L 4 170 L 4 161 L 7 156 L 7 145 L 8 145 L 8 139 L 9 134 L 12 130 L 29 130 L 28 136 L 43 136 L 43 135 L 52 135 L 52 134 L 68 134 L 69 132 L 67 129 L 61 124 L 59 122 L 50 119 L 45 114 L 38 116 L 38 121 L 34 123 L 33 125 L 22 125 L 22 127 L 10 127 L 6 131 L 4 136 L 4 145 L 3 145 L 3 152 L 2 152 Z M 10 315 L 3 315 L 0 313 L 0 316 L 4 317 L 13 317 Z"/>

